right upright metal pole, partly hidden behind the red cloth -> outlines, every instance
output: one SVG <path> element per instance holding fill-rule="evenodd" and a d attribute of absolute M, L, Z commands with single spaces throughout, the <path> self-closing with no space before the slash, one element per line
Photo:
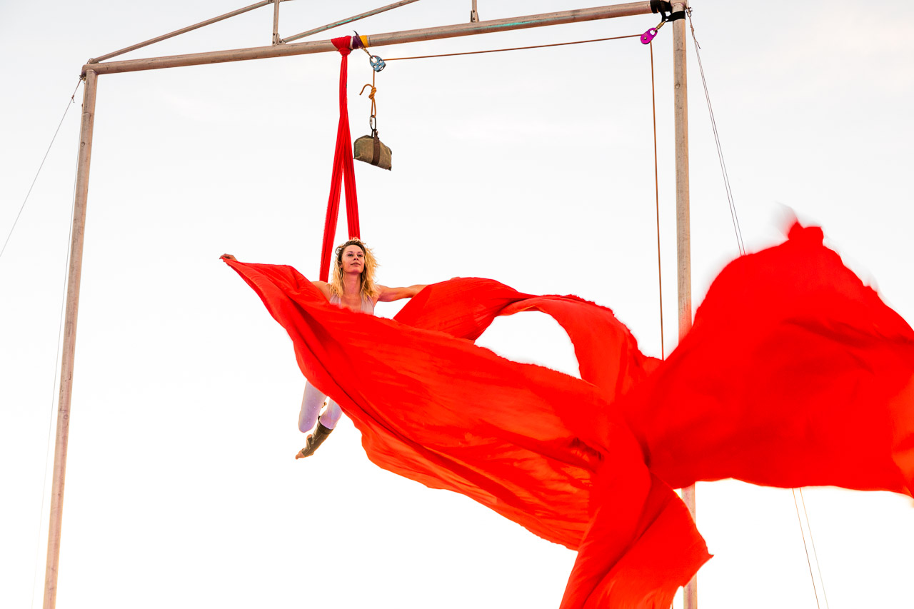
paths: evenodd
<path fill-rule="evenodd" d="M 685 11 L 686 2 L 674 2 L 673 12 Z M 685 78 L 685 19 L 674 21 L 673 27 L 673 89 L 676 147 L 676 265 L 679 294 L 679 340 L 692 327 L 692 260 L 689 233 L 688 200 L 688 89 Z M 695 485 L 683 489 L 683 501 L 695 519 Z M 685 609 L 698 607 L 698 579 L 685 584 Z"/>

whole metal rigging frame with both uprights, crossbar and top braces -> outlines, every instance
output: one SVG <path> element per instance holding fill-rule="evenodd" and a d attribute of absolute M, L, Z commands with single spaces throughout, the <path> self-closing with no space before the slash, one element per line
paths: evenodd
<path fill-rule="evenodd" d="M 288 44 L 292 40 L 351 23 L 358 19 L 377 15 L 417 0 L 400 0 L 392 5 L 351 16 L 322 27 L 317 27 L 301 34 L 282 38 L 279 36 L 279 6 L 287 0 L 261 0 L 225 15 L 207 19 L 193 26 L 175 30 L 160 37 L 154 37 L 131 47 L 122 48 L 107 55 L 90 59 L 82 67 L 81 76 L 85 80 L 82 97 L 82 120 L 80 123 L 80 152 L 77 161 L 76 198 L 74 201 L 72 238 L 69 250 L 69 270 L 67 275 L 67 309 L 64 318 L 63 355 L 60 366 L 60 385 L 58 394 L 57 435 L 54 446 L 54 471 L 51 483 L 50 521 L 48 525 L 48 560 L 45 570 L 44 609 L 54 609 L 57 604 L 58 566 L 60 559 L 60 529 L 63 518 L 63 492 L 67 470 L 67 444 L 69 442 L 69 409 L 73 390 L 73 364 L 76 353 L 76 325 L 80 305 L 80 275 L 82 272 L 82 248 L 86 226 L 86 203 L 89 198 L 89 168 L 92 153 L 92 127 L 95 121 L 95 100 L 98 77 L 101 74 L 139 71 L 144 69 L 177 68 L 247 59 L 266 59 L 326 53 L 336 48 L 330 40 L 316 40 Z M 104 61 L 123 53 L 143 48 L 175 37 L 185 32 L 205 27 L 232 16 L 246 13 L 265 5 L 273 5 L 272 44 L 270 47 L 237 48 L 231 50 L 174 55 L 150 59 L 128 59 L 122 61 Z M 621 16 L 650 15 L 660 10 L 678 13 L 688 10 L 687 0 L 675 0 L 672 3 L 646 0 L 624 5 L 596 6 L 557 13 L 545 13 L 479 21 L 476 12 L 476 0 L 473 0 L 471 22 L 452 26 L 425 27 L 387 34 L 367 36 L 368 47 L 383 47 L 406 42 L 435 40 L 447 37 L 474 36 L 504 32 L 527 27 L 556 26 L 610 19 Z M 677 294 L 679 313 L 679 339 L 682 340 L 692 326 L 692 278 L 689 240 L 689 181 L 688 181 L 688 102 L 685 71 L 685 20 L 672 21 L 673 28 L 673 88 L 675 117 L 675 189 L 676 189 L 676 267 Z M 683 500 L 692 518 L 695 518 L 695 486 L 683 489 Z M 685 586 L 685 609 L 697 608 L 697 585 L 693 578 Z"/>

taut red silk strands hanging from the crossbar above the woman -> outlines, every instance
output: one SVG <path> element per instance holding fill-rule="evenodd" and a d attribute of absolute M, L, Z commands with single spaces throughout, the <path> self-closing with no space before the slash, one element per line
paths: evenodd
<path fill-rule="evenodd" d="M 336 219 L 339 217 L 340 188 L 345 182 L 345 217 L 349 236 L 358 238 L 358 195 L 356 194 L 356 168 L 352 162 L 352 135 L 349 133 L 349 109 L 346 104 L 346 83 L 348 82 L 349 43 L 351 37 L 333 38 L 336 50 L 342 55 L 340 59 L 340 122 L 336 126 L 336 148 L 334 150 L 334 169 L 330 176 L 330 198 L 327 200 L 327 218 L 324 220 L 324 242 L 321 245 L 322 282 L 330 274 L 330 259 L 334 251 L 336 236 Z"/>

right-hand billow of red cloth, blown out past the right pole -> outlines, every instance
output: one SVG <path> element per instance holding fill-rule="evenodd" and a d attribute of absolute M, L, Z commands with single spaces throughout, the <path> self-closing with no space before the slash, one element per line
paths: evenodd
<path fill-rule="evenodd" d="M 674 487 L 914 489 L 914 332 L 796 224 L 731 262 L 692 331 L 620 402 Z"/>

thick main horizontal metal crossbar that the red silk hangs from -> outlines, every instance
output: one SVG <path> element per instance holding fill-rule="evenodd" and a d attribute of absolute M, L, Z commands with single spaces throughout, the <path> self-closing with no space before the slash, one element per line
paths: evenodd
<path fill-rule="evenodd" d="M 596 6 L 593 8 L 580 8 L 558 13 L 544 13 L 509 19 L 494 19 L 492 21 L 479 21 L 476 23 L 457 24 L 453 26 L 409 29 L 402 32 L 375 34 L 373 36 L 368 36 L 367 39 L 369 47 L 383 47 L 406 42 L 419 42 L 420 40 L 473 36 L 475 34 L 505 32 L 526 27 L 557 26 L 565 23 L 595 21 L 598 19 L 610 19 L 621 16 L 649 15 L 650 13 L 650 1 L 632 2 L 625 5 Z M 245 61 L 247 59 L 267 59 L 271 57 L 309 55 L 311 53 L 328 53 L 335 50 L 336 48 L 330 40 L 315 40 L 314 42 L 299 42 L 291 45 L 236 48 L 234 50 L 194 53 L 192 55 L 173 55 L 171 57 L 151 59 L 129 59 L 126 61 L 92 63 L 83 66 L 82 70 L 83 73 L 85 73 L 85 70 L 92 69 L 99 75 L 115 74 L 119 72 L 135 72 L 143 69 L 180 68 L 183 66 L 200 66 L 210 63 L 225 63 L 228 61 Z"/>

